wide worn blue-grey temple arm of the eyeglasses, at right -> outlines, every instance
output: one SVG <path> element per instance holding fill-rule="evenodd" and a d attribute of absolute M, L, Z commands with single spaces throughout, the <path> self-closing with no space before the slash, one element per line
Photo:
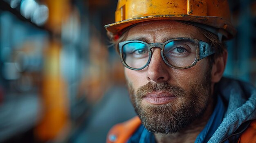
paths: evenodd
<path fill-rule="evenodd" d="M 210 44 L 203 42 L 203 41 L 199 41 L 198 43 L 199 46 L 199 59 L 203 59 L 209 55 L 212 55 L 215 53 L 214 49 L 211 48 Z"/>

